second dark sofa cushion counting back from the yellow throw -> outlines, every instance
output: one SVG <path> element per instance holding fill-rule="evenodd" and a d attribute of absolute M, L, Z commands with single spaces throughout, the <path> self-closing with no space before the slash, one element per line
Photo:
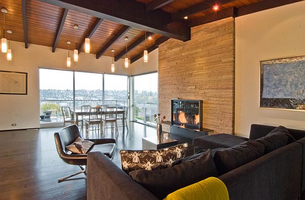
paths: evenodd
<path fill-rule="evenodd" d="M 223 175 L 264 155 L 264 145 L 256 140 L 243 142 L 231 148 L 216 151 L 214 161 Z"/>

